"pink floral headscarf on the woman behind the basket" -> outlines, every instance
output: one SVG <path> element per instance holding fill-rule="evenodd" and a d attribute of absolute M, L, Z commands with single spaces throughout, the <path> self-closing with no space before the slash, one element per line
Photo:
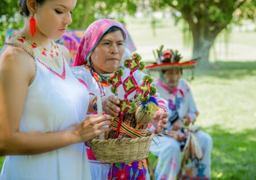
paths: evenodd
<path fill-rule="evenodd" d="M 112 27 L 118 27 L 126 38 L 126 33 L 122 26 L 112 19 L 96 20 L 86 29 L 84 36 L 80 41 L 79 49 L 77 50 L 76 59 L 73 66 L 84 65 L 90 58 L 93 50 L 105 33 Z"/>

